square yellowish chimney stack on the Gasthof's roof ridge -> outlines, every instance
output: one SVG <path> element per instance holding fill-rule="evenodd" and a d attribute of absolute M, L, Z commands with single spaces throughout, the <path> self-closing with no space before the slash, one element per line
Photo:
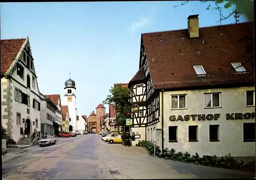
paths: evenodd
<path fill-rule="evenodd" d="M 189 15 L 187 17 L 187 32 L 190 38 L 199 37 L 199 14 Z"/>

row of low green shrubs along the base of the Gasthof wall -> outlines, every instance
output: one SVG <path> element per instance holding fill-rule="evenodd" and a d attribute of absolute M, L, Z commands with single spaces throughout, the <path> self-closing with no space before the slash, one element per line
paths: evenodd
<path fill-rule="evenodd" d="M 150 141 L 139 141 L 136 146 L 144 147 L 148 150 L 151 155 L 154 155 L 154 143 Z M 212 166 L 212 167 L 222 167 L 226 169 L 238 169 L 243 171 L 255 172 L 255 161 L 244 163 L 243 161 L 237 162 L 229 153 L 228 155 L 218 158 L 216 155 L 203 155 L 199 156 L 198 153 L 195 155 L 190 155 L 188 152 L 177 152 L 174 148 L 168 150 L 168 148 L 163 149 L 161 152 L 160 147 L 156 146 L 156 155 L 160 158 L 166 160 L 180 161 L 184 163 L 194 163 L 196 165 Z"/>

